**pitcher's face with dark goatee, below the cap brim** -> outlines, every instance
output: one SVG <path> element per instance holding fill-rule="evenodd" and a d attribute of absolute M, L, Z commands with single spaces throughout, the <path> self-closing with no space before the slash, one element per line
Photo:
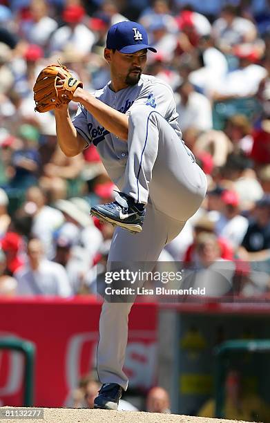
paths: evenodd
<path fill-rule="evenodd" d="M 147 50 L 139 50 L 133 54 L 119 53 L 117 50 L 115 53 L 110 51 L 112 76 L 127 86 L 137 84 L 146 65 Z"/>

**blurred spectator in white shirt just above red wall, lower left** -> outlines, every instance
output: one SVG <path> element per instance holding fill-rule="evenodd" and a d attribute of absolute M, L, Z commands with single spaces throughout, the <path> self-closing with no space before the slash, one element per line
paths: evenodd
<path fill-rule="evenodd" d="M 41 241 L 32 238 L 27 245 L 28 263 L 15 272 L 17 295 L 70 297 L 66 270 L 45 259 Z"/>

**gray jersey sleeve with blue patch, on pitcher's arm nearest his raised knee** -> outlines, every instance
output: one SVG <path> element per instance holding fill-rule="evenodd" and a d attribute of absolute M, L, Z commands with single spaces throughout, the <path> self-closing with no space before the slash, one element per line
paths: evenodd
<path fill-rule="evenodd" d="M 173 91 L 170 86 L 164 84 L 162 81 L 143 86 L 135 102 L 126 114 L 129 115 L 131 110 L 142 105 L 153 107 L 166 120 L 170 120 L 171 115 L 176 113 Z"/>

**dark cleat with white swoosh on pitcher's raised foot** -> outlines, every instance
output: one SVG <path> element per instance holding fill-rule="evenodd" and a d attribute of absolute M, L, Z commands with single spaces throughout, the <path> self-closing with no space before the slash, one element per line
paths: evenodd
<path fill-rule="evenodd" d="M 113 225 L 118 225 L 128 229 L 133 233 L 142 232 L 144 223 L 144 204 L 135 203 L 132 197 L 122 192 L 118 192 L 113 203 L 99 204 L 91 207 L 90 214 L 97 216 Z"/>

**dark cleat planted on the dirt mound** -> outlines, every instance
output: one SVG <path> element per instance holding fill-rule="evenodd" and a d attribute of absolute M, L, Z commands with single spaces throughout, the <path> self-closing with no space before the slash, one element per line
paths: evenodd
<path fill-rule="evenodd" d="M 122 391 L 122 387 L 117 384 L 103 384 L 94 400 L 94 408 L 117 410 Z"/>

